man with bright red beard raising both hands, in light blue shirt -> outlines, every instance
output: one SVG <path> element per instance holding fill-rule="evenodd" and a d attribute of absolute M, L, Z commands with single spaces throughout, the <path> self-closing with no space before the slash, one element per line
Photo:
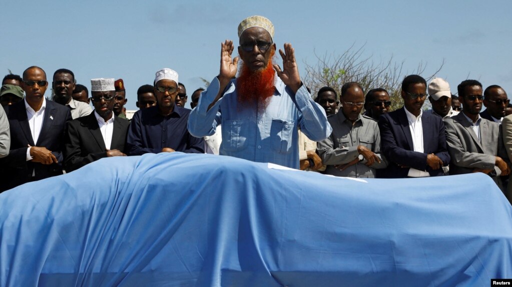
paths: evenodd
<path fill-rule="evenodd" d="M 273 63 L 276 48 L 270 20 L 248 17 L 238 26 L 238 35 L 238 78 L 233 79 L 239 58 L 231 58 L 233 42 L 226 40 L 221 44 L 219 76 L 190 112 L 188 130 L 203 137 L 222 125 L 221 155 L 298 169 L 297 131 L 311 140 L 329 136 L 332 129 L 325 111 L 302 83 L 291 44 L 279 51 L 283 69 Z"/>

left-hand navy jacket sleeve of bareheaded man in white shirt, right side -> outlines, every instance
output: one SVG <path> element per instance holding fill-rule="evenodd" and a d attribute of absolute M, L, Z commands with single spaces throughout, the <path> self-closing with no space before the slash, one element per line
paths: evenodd
<path fill-rule="evenodd" d="M 399 165 L 425 171 L 427 154 L 406 150 L 398 145 L 388 114 L 380 116 L 378 126 L 382 153 L 388 160 L 388 164 L 395 162 Z"/>

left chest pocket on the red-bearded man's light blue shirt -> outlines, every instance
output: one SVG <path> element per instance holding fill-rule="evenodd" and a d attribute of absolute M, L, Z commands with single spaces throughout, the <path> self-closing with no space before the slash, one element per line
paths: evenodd
<path fill-rule="evenodd" d="M 229 152 L 241 151 L 247 148 L 249 121 L 235 119 L 222 122 L 222 148 Z"/>

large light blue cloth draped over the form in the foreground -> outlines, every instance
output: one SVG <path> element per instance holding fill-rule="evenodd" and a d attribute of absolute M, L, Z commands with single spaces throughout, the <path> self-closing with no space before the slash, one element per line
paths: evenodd
<path fill-rule="evenodd" d="M 183 153 L 0 194 L 1 286 L 488 286 L 512 207 L 483 174 L 358 181 Z"/>

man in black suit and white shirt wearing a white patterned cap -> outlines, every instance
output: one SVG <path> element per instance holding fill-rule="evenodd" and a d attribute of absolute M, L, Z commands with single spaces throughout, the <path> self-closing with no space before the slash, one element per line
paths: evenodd
<path fill-rule="evenodd" d="M 92 79 L 94 112 L 68 125 L 65 170 L 74 171 L 103 157 L 126 156 L 124 144 L 130 122 L 116 116 L 114 79 Z"/>

